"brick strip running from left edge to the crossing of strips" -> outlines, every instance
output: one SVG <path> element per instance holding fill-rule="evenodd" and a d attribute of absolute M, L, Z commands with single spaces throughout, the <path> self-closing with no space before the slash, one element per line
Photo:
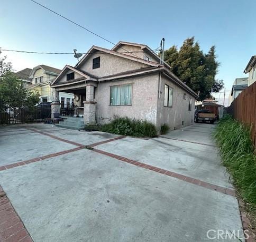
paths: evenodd
<path fill-rule="evenodd" d="M 57 152 L 57 153 L 47 154 L 46 156 L 36 157 L 36 158 L 30 159 L 30 160 L 24 160 L 24 161 L 20 161 L 20 162 L 17 162 L 17 163 L 6 164 L 6 166 L 0 167 L 0 171 L 11 169 L 11 168 L 14 168 L 14 167 L 24 166 L 25 164 L 30 164 L 30 163 L 33 163 L 33 162 L 49 159 L 49 158 L 56 157 L 56 156 L 61 156 L 62 154 L 75 152 L 75 151 L 78 151 L 78 150 L 81 150 L 81 149 L 84 149 L 84 148 L 85 148 L 85 146 L 77 147 L 77 148 L 70 149 L 70 150 L 64 150 L 64 151 L 60 151 L 60 152 Z"/>

